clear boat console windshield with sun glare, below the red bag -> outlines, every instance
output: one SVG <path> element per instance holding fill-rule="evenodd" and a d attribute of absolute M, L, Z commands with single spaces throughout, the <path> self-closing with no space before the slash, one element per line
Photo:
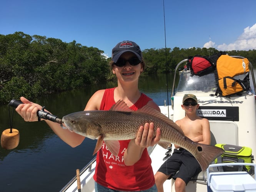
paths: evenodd
<path fill-rule="evenodd" d="M 190 76 L 190 71 L 181 72 L 180 81 L 177 92 L 179 91 L 216 91 L 216 83 L 214 73 L 209 73 L 204 76 Z"/>

